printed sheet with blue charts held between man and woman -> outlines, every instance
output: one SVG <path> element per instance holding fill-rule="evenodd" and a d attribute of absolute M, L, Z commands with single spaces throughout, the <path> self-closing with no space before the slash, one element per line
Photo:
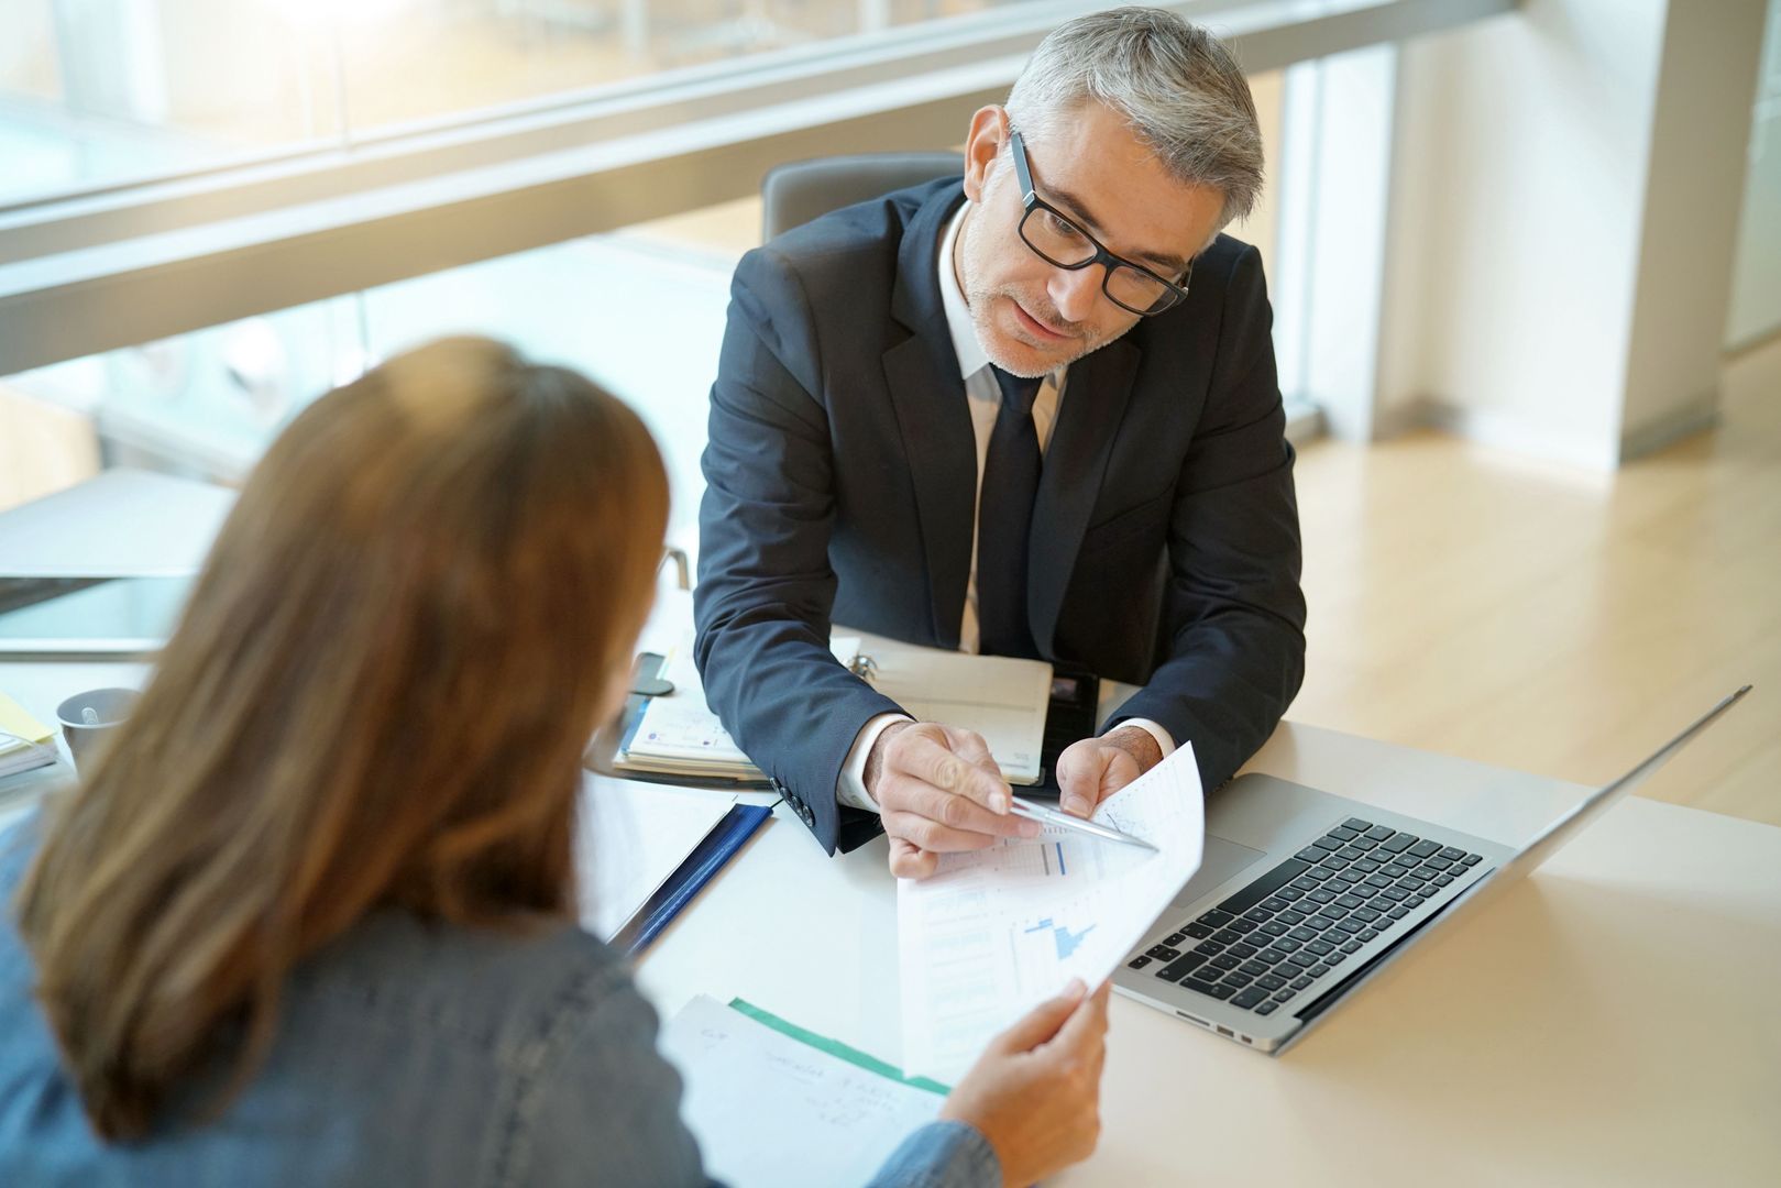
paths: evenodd
<path fill-rule="evenodd" d="M 947 853 L 898 880 L 903 1070 L 955 1083 L 997 1031 L 1070 978 L 1097 987 L 1200 866 L 1206 803 L 1193 746 L 1094 812 L 1158 853 L 1045 826 Z"/>

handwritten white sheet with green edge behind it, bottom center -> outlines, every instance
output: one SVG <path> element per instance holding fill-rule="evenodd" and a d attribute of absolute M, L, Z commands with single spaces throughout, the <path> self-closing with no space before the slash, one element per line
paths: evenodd
<path fill-rule="evenodd" d="M 661 1033 L 705 1174 L 734 1188 L 864 1184 L 944 1097 L 830 1056 L 703 994 Z"/>

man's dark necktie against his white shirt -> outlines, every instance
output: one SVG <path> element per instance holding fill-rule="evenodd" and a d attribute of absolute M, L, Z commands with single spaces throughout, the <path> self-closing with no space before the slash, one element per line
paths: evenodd
<path fill-rule="evenodd" d="M 1038 379 L 1019 379 L 990 365 L 1003 392 L 978 495 L 978 634 L 988 655 L 1037 657 L 1026 620 L 1026 554 L 1038 492 Z"/>

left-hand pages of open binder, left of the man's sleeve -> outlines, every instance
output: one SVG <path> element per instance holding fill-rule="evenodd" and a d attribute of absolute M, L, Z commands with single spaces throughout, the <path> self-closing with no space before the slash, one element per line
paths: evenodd
<path fill-rule="evenodd" d="M 857 636 L 837 636 L 828 650 L 846 666 L 860 652 Z M 652 696 L 618 745 L 613 768 L 636 775 L 680 775 L 705 780 L 760 780 L 762 773 L 730 739 L 705 705 L 705 686 L 693 663 L 693 634 L 668 654 L 661 675 L 673 693 Z"/>

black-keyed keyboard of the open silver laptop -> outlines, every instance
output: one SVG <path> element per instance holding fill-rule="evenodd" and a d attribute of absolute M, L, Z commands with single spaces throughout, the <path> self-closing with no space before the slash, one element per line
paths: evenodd
<path fill-rule="evenodd" d="M 1272 1015 L 1480 860 L 1348 818 L 1127 965 Z"/>

